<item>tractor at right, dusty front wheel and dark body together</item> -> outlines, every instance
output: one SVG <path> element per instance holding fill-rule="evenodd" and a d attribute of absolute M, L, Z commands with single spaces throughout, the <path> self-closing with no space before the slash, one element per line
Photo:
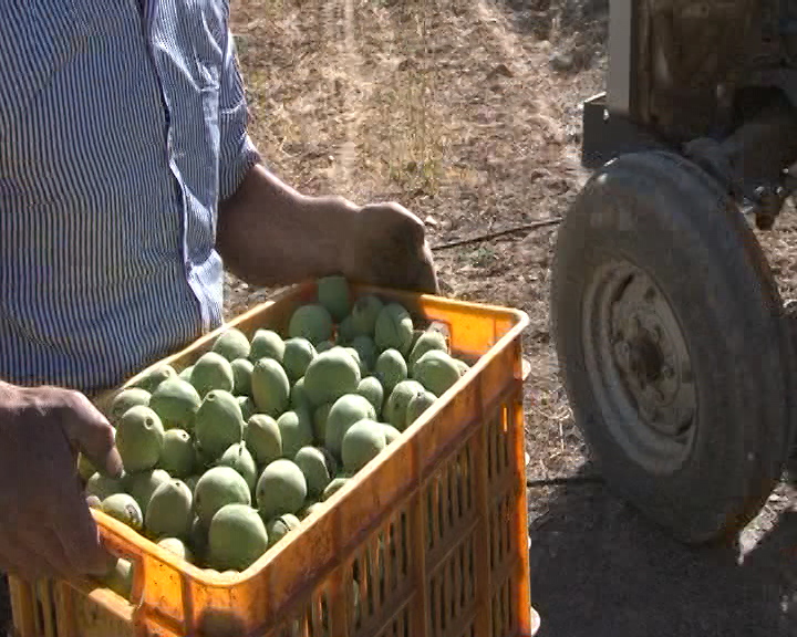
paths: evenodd
<path fill-rule="evenodd" d="M 735 541 L 797 430 L 796 321 L 756 238 L 797 188 L 797 1 L 610 0 L 608 53 L 551 264 L 562 383 L 613 492 Z"/>

